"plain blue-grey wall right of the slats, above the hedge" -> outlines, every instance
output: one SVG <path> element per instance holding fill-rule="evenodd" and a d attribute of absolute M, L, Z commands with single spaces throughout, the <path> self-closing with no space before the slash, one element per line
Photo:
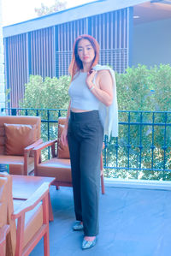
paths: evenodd
<path fill-rule="evenodd" d="M 171 20 L 133 27 L 133 65 L 171 64 Z"/>

